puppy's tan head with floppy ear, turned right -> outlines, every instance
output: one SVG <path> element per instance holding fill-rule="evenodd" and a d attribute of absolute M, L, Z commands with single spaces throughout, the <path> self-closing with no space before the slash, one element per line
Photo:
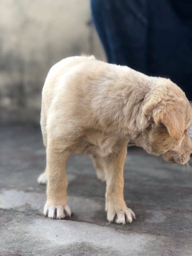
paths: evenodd
<path fill-rule="evenodd" d="M 143 131 L 136 140 L 148 153 L 185 164 L 192 154 L 188 130 L 192 109 L 184 92 L 169 79 L 157 78 L 142 108 Z"/>

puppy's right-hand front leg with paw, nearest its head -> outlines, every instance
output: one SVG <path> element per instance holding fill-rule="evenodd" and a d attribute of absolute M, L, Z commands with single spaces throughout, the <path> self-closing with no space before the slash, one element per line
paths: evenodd
<path fill-rule="evenodd" d="M 118 152 L 104 157 L 104 168 L 106 173 L 106 212 L 109 222 L 125 224 L 135 219 L 134 212 L 127 208 L 124 196 L 123 168 L 127 153 L 127 145 L 122 144 Z"/>

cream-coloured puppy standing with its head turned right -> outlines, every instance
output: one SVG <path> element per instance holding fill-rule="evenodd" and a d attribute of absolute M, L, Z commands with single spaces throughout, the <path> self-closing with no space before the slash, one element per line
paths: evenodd
<path fill-rule="evenodd" d="M 49 71 L 42 92 L 41 129 L 46 147 L 44 215 L 71 216 L 65 166 L 69 156 L 91 154 L 97 176 L 106 180 L 109 222 L 135 219 L 124 201 L 123 168 L 130 140 L 149 154 L 185 164 L 192 153 L 192 110 L 171 80 L 149 77 L 126 66 L 76 56 Z"/>

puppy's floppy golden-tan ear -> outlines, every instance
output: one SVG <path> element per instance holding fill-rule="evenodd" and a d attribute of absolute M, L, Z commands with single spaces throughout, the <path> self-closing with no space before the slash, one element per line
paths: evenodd
<path fill-rule="evenodd" d="M 183 100 L 162 102 L 153 110 L 155 123 L 164 124 L 174 140 L 181 140 L 185 130 L 185 105 Z"/>

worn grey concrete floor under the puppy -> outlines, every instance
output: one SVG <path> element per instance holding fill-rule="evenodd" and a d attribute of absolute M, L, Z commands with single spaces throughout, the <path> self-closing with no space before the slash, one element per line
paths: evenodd
<path fill-rule="evenodd" d="M 136 220 L 109 224 L 105 183 L 89 156 L 69 158 L 70 220 L 42 214 L 45 167 L 39 127 L 0 128 L 0 255 L 192 255 L 192 167 L 172 165 L 128 148 L 124 197 Z"/>

